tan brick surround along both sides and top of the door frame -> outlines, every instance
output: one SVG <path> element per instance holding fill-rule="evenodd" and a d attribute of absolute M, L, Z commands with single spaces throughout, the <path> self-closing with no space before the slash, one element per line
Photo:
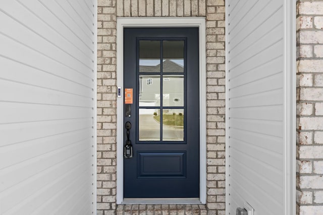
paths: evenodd
<path fill-rule="evenodd" d="M 98 0 L 97 213 L 116 213 L 116 17 L 206 17 L 207 207 L 225 214 L 225 1 Z"/>

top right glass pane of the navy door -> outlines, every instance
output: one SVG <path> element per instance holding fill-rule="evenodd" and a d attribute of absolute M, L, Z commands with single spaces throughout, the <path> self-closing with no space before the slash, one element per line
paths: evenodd
<path fill-rule="evenodd" d="M 163 41 L 163 73 L 184 72 L 184 40 Z"/>

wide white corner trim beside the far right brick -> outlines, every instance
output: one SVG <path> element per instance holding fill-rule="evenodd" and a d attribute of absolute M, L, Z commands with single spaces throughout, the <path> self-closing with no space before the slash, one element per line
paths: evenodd
<path fill-rule="evenodd" d="M 284 0 L 284 209 L 296 214 L 296 3 Z"/>

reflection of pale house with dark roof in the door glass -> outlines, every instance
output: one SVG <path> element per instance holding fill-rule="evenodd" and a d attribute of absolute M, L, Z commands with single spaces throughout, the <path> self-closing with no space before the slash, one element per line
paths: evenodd
<path fill-rule="evenodd" d="M 160 64 L 139 65 L 140 73 L 160 71 Z M 173 60 L 164 60 L 163 70 L 169 73 L 183 73 L 183 65 Z M 160 106 L 160 81 L 163 84 L 163 107 L 184 106 L 184 75 L 139 75 L 139 106 Z M 158 112 L 155 109 L 147 110 Z M 147 112 L 147 114 L 148 114 Z"/>

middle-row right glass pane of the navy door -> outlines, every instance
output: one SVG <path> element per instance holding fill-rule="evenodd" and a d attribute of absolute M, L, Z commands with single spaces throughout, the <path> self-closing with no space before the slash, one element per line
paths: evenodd
<path fill-rule="evenodd" d="M 163 76 L 163 106 L 184 107 L 184 75 Z"/>

